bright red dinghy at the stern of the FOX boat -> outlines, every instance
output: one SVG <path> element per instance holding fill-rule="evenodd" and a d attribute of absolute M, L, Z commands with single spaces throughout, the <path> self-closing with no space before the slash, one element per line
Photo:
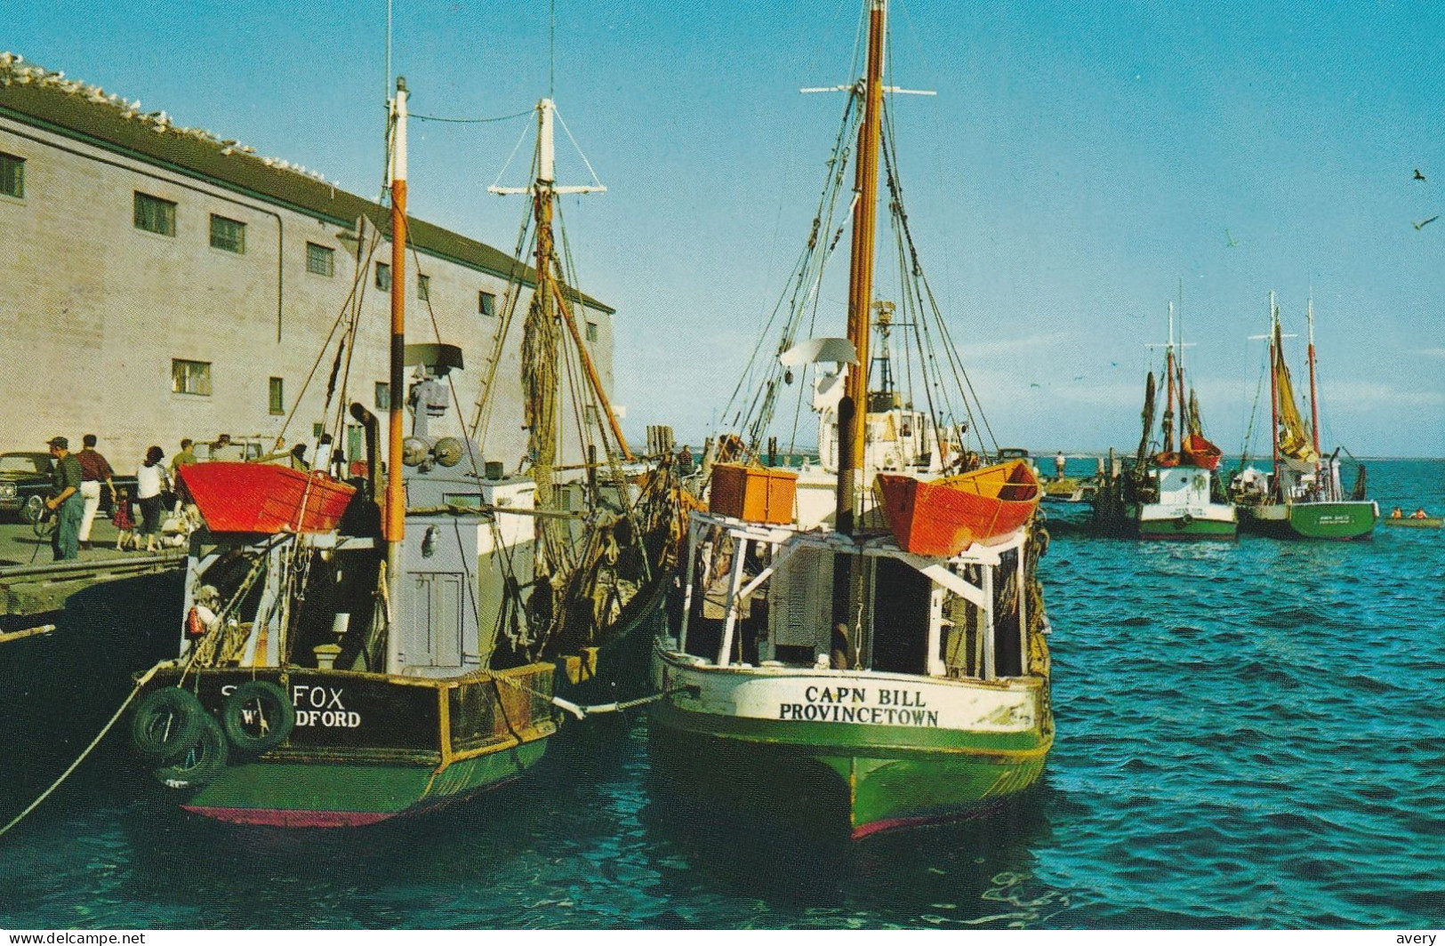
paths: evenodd
<path fill-rule="evenodd" d="M 214 533 L 329 531 L 355 494 L 324 472 L 275 464 L 191 464 L 178 472 Z"/>

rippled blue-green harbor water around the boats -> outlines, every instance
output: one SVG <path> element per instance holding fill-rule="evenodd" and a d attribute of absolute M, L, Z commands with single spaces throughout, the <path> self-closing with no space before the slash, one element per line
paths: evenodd
<path fill-rule="evenodd" d="M 1370 481 L 1384 508 L 1445 507 L 1442 461 L 1371 462 Z M 1058 739 L 1035 791 L 970 822 L 799 843 L 683 810 L 636 716 L 432 816 L 237 829 L 153 804 L 111 737 L 0 838 L 0 926 L 1445 926 L 1445 531 L 1061 529 L 1045 581 Z M 116 667 L 169 646 L 169 594 L 97 595 L 64 635 L 0 646 L 0 820 L 124 696 Z M 62 676 L 75 635 L 91 656 Z"/>

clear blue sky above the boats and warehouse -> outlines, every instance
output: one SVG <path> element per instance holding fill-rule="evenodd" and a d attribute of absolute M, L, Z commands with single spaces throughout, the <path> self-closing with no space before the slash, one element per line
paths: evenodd
<path fill-rule="evenodd" d="M 0 46 L 377 194 L 383 0 L 136 7 L 12 0 Z M 608 188 L 564 214 L 618 311 L 629 430 L 696 442 L 731 391 L 838 117 L 798 90 L 853 78 L 857 20 L 556 1 L 555 98 Z M 913 231 L 1000 441 L 1137 442 L 1144 342 L 1182 300 L 1208 432 L 1238 449 L 1247 337 L 1272 289 L 1303 334 L 1312 289 L 1327 445 L 1445 456 L 1445 220 L 1412 225 L 1445 212 L 1435 7 L 894 0 L 892 26 L 890 81 L 938 91 L 897 103 Z M 548 3 L 397 0 L 394 69 L 416 113 L 507 116 L 548 91 Z M 526 121 L 416 123 L 412 211 L 510 247 L 523 208 L 486 188 Z"/>

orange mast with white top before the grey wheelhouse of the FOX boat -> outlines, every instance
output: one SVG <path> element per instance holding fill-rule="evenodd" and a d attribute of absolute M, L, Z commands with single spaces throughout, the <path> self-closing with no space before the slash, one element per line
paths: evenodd
<path fill-rule="evenodd" d="M 402 485 L 402 417 L 405 410 L 406 365 L 406 79 L 396 78 L 396 97 L 390 101 L 390 162 L 387 179 L 392 188 L 392 394 L 387 429 L 386 462 L 386 539 L 387 583 L 390 599 L 399 601 L 402 572 L 402 537 L 406 533 L 406 491 Z M 393 615 L 394 617 L 394 615 Z M 387 628 L 387 673 L 399 670 L 399 647 L 396 625 Z"/>

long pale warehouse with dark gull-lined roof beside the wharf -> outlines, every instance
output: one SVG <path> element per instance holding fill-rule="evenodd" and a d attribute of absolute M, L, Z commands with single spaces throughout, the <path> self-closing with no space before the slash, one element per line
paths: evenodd
<path fill-rule="evenodd" d="M 387 211 L 249 152 L 0 53 L 0 451 L 95 433 L 133 469 L 149 445 L 171 456 L 184 436 L 308 442 L 324 422 L 334 326 L 357 303 L 335 387 L 387 406 Z M 406 338 L 462 348 L 452 378 L 468 423 L 520 279 L 483 438 L 488 461 L 516 469 L 532 272 L 423 221 L 410 238 Z M 578 306 L 607 390 L 613 315 Z M 358 454 L 357 429 L 342 448 Z"/>

